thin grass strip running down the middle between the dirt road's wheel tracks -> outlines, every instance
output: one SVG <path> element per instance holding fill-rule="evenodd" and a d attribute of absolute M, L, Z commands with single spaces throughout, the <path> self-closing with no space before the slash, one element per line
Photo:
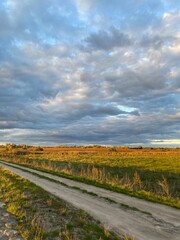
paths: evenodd
<path fill-rule="evenodd" d="M 11 165 L 9 165 L 9 164 L 7 164 L 7 163 L 5 163 L 5 165 L 11 166 Z M 16 168 L 16 169 L 22 170 L 20 167 L 17 167 L 17 166 L 13 166 L 13 167 Z M 87 191 L 87 190 L 85 190 L 85 189 L 81 189 L 80 187 L 69 186 L 69 185 L 66 184 L 66 183 L 63 183 L 63 182 L 61 182 L 61 181 L 58 181 L 58 180 L 49 178 L 49 177 L 47 177 L 47 176 L 39 175 L 38 173 L 31 172 L 31 171 L 29 171 L 29 170 L 27 170 L 27 169 L 26 169 L 26 170 L 23 169 L 22 171 L 31 173 L 32 175 L 38 176 L 39 178 L 47 179 L 47 180 L 49 180 L 49 181 L 51 181 L 51 182 L 58 183 L 58 184 L 60 184 L 60 185 L 62 185 L 62 186 L 65 186 L 65 187 L 67 187 L 67 188 L 74 189 L 74 190 L 78 190 L 78 191 L 80 191 L 80 192 L 82 192 L 82 193 L 89 194 L 89 195 L 91 195 L 91 196 L 94 196 L 94 197 L 103 199 L 103 200 L 105 200 L 105 201 L 108 201 L 110 204 L 117 204 L 117 205 L 119 206 L 119 208 L 126 209 L 127 211 L 130 210 L 130 211 L 141 212 L 141 213 L 146 214 L 146 215 L 151 215 L 151 213 L 149 213 L 149 212 L 142 211 L 142 210 L 140 210 L 140 209 L 138 209 L 138 208 L 136 208 L 136 207 L 131 207 L 131 206 L 129 206 L 128 204 L 118 203 L 118 202 L 112 200 L 112 199 L 109 198 L 109 197 L 99 196 L 98 194 L 96 194 L 96 193 L 94 193 L 94 192 L 90 192 L 90 191 Z"/>

